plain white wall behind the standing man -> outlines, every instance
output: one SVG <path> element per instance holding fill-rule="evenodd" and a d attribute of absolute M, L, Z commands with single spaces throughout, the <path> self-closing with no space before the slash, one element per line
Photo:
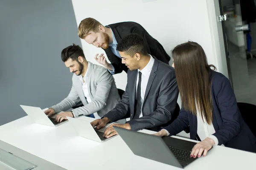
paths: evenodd
<path fill-rule="evenodd" d="M 103 25 L 111 23 L 134 21 L 140 23 L 152 37 L 157 39 L 168 54 L 178 44 L 192 40 L 204 48 L 209 64 L 214 64 L 220 72 L 225 73 L 219 59 L 214 42 L 212 29 L 217 29 L 213 15 L 214 5 L 210 0 L 156 0 L 143 3 L 143 0 L 72 0 L 76 22 L 93 17 Z M 209 12 L 210 10 L 210 12 Z M 214 22 L 215 27 L 212 27 Z M 216 39 L 216 38 L 215 38 Z M 218 39 L 216 39 L 218 40 Z M 104 53 L 100 48 L 87 44 L 82 40 L 86 58 L 94 62 L 97 53 Z M 220 57 L 220 56 L 218 56 Z M 125 89 L 126 74 L 114 75 L 118 88 Z"/>

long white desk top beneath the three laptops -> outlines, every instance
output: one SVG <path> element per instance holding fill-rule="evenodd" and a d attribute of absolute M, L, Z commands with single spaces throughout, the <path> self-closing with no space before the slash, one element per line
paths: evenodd
<path fill-rule="evenodd" d="M 85 116 L 79 119 L 93 120 Z M 143 132 L 154 133 L 149 130 Z M 103 167 L 106 170 L 180 170 L 177 167 L 135 156 L 120 136 L 104 143 L 77 136 L 69 122 L 58 127 L 48 127 L 35 124 L 29 116 L 25 116 L 0 126 L 0 140 L 67 170 L 98 170 Z M 256 170 L 256 154 L 215 146 L 206 157 L 201 157 L 185 167 L 187 170 L 203 168 Z"/>

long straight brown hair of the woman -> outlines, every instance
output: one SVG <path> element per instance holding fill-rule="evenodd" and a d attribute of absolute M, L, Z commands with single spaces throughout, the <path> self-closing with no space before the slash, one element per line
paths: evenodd
<path fill-rule="evenodd" d="M 204 49 L 196 42 L 177 45 L 172 51 L 175 74 L 183 107 L 197 115 L 201 113 L 206 122 L 212 123 L 212 79 L 210 71 L 214 65 L 208 65 Z M 213 69 L 211 69 L 211 67 Z"/>

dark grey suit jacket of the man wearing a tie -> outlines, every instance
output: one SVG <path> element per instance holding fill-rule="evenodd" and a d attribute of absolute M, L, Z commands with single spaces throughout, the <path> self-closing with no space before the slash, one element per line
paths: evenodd
<path fill-rule="evenodd" d="M 143 117 L 134 119 L 137 70 L 128 70 L 122 100 L 104 117 L 115 122 L 129 115 L 131 120 L 128 123 L 132 130 L 151 129 L 171 120 L 179 94 L 175 71 L 170 65 L 154 59 L 143 101 Z"/>

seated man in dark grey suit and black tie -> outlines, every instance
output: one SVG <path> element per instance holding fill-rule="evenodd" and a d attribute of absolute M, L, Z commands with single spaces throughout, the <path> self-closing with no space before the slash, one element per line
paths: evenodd
<path fill-rule="evenodd" d="M 179 93 L 174 68 L 148 54 L 146 43 L 138 34 L 123 37 L 116 49 L 122 63 L 129 68 L 125 93 L 112 111 L 91 125 L 99 129 L 108 122 L 130 116 L 130 121 L 123 125 L 109 126 L 104 133 L 108 138 L 117 134 L 113 126 L 142 130 L 169 122 Z"/>

